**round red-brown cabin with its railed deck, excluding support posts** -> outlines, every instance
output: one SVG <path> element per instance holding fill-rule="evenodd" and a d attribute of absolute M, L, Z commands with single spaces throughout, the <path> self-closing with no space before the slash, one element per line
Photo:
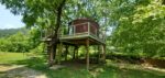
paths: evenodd
<path fill-rule="evenodd" d="M 85 45 L 85 40 L 88 38 L 91 45 L 105 44 L 105 38 L 99 31 L 99 24 L 90 19 L 76 19 L 69 22 L 67 30 L 67 33 L 59 37 L 62 42 Z"/>

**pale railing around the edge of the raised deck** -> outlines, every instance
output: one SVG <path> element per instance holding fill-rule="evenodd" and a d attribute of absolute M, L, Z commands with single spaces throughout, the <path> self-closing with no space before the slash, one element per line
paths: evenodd
<path fill-rule="evenodd" d="M 91 24 L 90 22 L 85 22 L 85 23 L 80 23 L 80 24 L 70 25 L 67 29 L 68 30 L 67 33 L 64 33 L 64 29 L 61 27 L 59 32 L 58 32 L 58 37 L 88 35 L 88 36 L 92 36 L 92 37 L 95 37 L 99 41 L 105 42 L 103 33 L 100 32 L 99 29 L 94 30 L 92 26 L 95 26 L 95 25 Z M 53 30 L 42 30 L 41 41 L 51 41 L 51 38 L 48 38 L 48 36 L 53 35 L 52 32 L 53 32 Z"/>

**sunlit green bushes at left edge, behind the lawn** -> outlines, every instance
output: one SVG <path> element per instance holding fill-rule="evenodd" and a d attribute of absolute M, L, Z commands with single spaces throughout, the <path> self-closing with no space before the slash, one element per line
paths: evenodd
<path fill-rule="evenodd" d="M 0 38 L 0 51 L 2 52 L 29 52 L 40 47 L 41 34 L 37 29 L 18 32 L 8 37 Z M 42 48 L 42 47 L 41 47 Z"/>

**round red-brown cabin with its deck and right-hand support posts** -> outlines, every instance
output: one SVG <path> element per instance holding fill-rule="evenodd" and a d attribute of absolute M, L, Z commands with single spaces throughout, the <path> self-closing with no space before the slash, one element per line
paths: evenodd
<path fill-rule="evenodd" d="M 74 45 L 76 47 L 80 45 L 86 46 L 86 63 L 87 69 L 89 68 L 89 46 L 102 45 L 101 58 L 106 57 L 106 42 L 101 31 L 99 31 L 99 24 L 90 19 L 76 19 L 69 22 L 67 32 L 59 36 L 59 42 L 66 45 Z M 77 53 L 78 53 L 78 48 Z M 75 51 L 76 51 L 75 49 Z M 75 57 L 74 51 L 74 57 Z"/>

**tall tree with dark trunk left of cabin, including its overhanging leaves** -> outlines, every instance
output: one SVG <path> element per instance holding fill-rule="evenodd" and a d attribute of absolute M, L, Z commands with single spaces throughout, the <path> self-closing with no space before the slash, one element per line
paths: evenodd
<path fill-rule="evenodd" d="M 108 19 L 109 9 L 103 8 L 110 3 L 108 0 L 1 0 L 0 2 L 12 13 L 23 15 L 23 22 L 28 27 L 48 29 L 51 32 L 48 37 L 52 40 L 47 44 L 48 52 L 54 55 L 50 56 L 53 57 L 50 58 L 51 65 L 55 58 L 59 27 L 75 18 L 95 18 L 101 25 L 107 25 L 102 20 Z"/>

